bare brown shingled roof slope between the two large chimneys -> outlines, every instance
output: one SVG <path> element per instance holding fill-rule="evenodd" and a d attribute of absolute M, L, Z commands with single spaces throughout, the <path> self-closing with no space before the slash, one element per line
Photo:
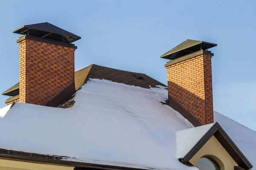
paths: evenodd
<path fill-rule="evenodd" d="M 119 82 L 126 85 L 134 85 L 142 88 L 150 88 L 162 86 L 166 87 L 163 83 L 158 82 L 157 80 L 149 77 L 146 74 L 134 73 L 130 71 L 117 70 L 114 68 L 103 67 L 100 65 L 89 65 L 79 71 L 75 72 L 75 86 L 76 91 L 78 91 L 89 79 L 106 79 L 113 82 Z M 47 105 L 52 107 L 60 107 L 60 108 L 72 108 L 74 103 L 74 95 L 69 96 L 64 99 L 64 102 L 60 102 L 60 98 L 65 98 L 67 95 L 67 91 L 61 92 L 57 95 L 52 101 L 49 103 L 55 103 L 54 105 Z M 60 97 L 59 97 L 60 96 Z"/>

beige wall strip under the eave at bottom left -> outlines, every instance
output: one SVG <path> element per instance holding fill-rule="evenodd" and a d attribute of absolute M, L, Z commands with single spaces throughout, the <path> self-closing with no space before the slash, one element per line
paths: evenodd
<path fill-rule="evenodd" d="M 22 161 L 0 159 L 0 170 L 73 170 L 74 167 L 64 167 L 49 164 L 36 164 Z"/>

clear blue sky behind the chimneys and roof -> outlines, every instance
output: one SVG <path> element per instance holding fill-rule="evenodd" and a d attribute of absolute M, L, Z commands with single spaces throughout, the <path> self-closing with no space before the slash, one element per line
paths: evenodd
<path fill-rule="evenodd" d="M 49 22 L 82 37 L 75 69 L 90 64 L 148 74 L 167 83 L 160 55 L 186 39 L 212 48 L 214 110 L 256 130 L 256 1 L 23 0 L 1 1 L 0 92 L 19 81 L 23 25 Z M 0 108 L 6 96 L 0 96 Z"/>

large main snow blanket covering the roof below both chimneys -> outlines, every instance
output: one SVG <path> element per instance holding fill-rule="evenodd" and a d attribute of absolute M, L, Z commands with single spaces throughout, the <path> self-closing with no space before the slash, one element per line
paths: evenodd
<path fill-rule="evenodd" d="M 176 157 L 175 132 L 193 126 L 159 102 L 166 98 L 165 87 L 91 79 L 77 91 L 73 108 L 16 102 L 1 110 L 0 148 L 116 166 L 196 169 Z"/>

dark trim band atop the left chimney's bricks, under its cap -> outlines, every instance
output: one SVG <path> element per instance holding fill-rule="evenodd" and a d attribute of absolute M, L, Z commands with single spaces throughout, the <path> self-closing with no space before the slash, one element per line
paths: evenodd
<path fill-rule="evenodd" d="M 74 44 L 70 44 L 70 43 L 67 43 L 67 42 L 60 42 L 60 41 L 50 40 L 50 39 L 46 39 L 46 38 L 35 37 L 35 36 L 32 36 L 32 35 L 23 35 L 22 37 L 20 37 L 17 40 L 17 43 L 19 43 L 23 40 L 34 40 L 34 41 L 40 41 L 40 42 L 45 42 L 45 43 L 49 43 L 49 44 L 61 45 L 61 46 L 64 46 L 64 47 L 70 47 L 70 48 L 77 49 L 77 46 L 74 45 Z"/>

